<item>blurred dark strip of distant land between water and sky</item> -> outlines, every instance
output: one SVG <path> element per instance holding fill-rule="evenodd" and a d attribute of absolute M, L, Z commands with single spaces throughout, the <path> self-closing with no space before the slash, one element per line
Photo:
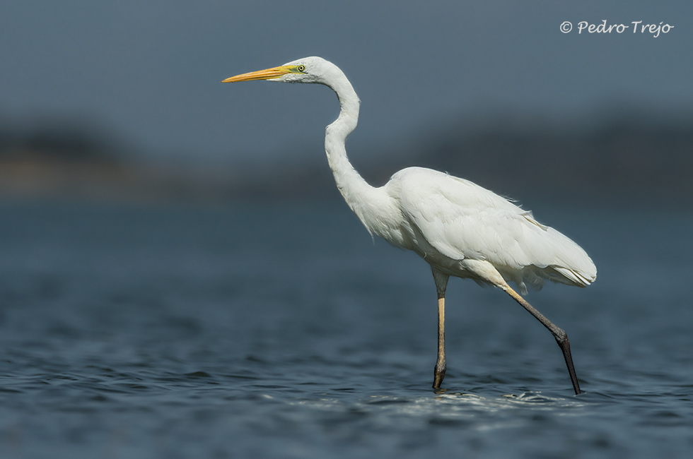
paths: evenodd
<path fill-rule="evenodd" d="M 302 161 L 292 158 L 291 163 L 281 159 L 285 155 L 276 155 L 276 162 L 262 165 L 139 162 L 107 136 L 81 126 L 55 126 L 42 124 L 22 132 L 0 126 L 0 198 L 236 201 L 339 196 L 321 152 Z M 359 152 L 357 159 L 356 169 L 375 185 L 402 167 L 419 165 L 470 179 L 504 196 L 691 205 L 693 112 L 654 116 L 631 110 L 571 121 L 465 117 L 384 151 Z"/>

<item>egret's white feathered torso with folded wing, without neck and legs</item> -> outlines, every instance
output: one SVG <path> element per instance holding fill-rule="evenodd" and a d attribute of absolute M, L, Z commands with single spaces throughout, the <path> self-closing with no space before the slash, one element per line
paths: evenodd
<path fill-rule="evenodd" d="M 544 279 L 585 287 L 596 269 L 580 246 L 471 181 L 421 167 L 397 172 L 378 208 L 356 210 L 369 231 L 458 278 L 540 289 Z M 388 215 L 387 219 L 383 215 Z M 494 273 L 493 278 L 487 278 Z"/>

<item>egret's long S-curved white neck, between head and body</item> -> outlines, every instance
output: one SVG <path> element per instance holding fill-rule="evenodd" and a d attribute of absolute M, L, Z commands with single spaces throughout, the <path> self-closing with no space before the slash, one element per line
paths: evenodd
<path fill-rule="evenodd" d="M 347 136 L 356 129 L 359 121 L 359 97 L 344 73 L 339 71 L 339 76 L 334 77 L 336 78 L 333 78 L 329 86 L 337 93 L 342 109 L 337 120 L 325 128 L 327 162 L 332 169 L 337 189 L 342 193 L 351 210 L 369 231 L 378 233 L 378 230 L 373 227 L 373 217 L 377 213 L 375 206 L 382 201 L 383 196 L 380 196 L 382 191 L 369 185 L 359 172 L 356 172 L 349 162 L 347 149 L 344 146 Z"/>

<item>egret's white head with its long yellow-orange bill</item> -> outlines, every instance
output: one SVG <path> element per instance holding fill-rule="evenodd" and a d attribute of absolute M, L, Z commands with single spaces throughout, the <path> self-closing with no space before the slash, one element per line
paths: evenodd
<path fill-rule="evenodd" d="M 268 80 L 282 83 L 322 83 L 330 71 L 334 71 L 334 64 L 325 61 L 322 57 L 304 57 L 296 61 L 287 62 L 283 66 L 267 68 L 265 70 L 243 73 L 241 75 L 226 78 L 221 83 L 233 83 L 236 81 Z"/>

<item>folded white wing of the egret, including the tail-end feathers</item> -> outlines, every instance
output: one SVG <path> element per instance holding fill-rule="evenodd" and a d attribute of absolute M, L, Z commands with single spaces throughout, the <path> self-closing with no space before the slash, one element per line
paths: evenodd
<path fill-rule="evenodd" d="M 404 217 L 443 256 L 488 261 L 518 285 L 595 280 L 580 246 L 496 193 L 430 169 L 404 169 L 395 178 Z"/>

